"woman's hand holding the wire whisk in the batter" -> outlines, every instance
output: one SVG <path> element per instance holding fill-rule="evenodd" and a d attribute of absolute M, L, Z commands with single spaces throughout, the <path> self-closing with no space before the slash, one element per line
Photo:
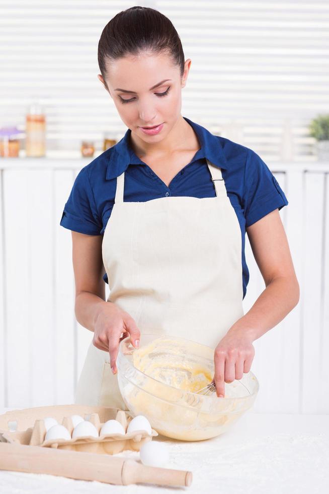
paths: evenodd
<path fill-rule="evenodd" d="M 234 379 L 242 379 L 243 373 L 250 371 L 255 355 L 253 338 L 243 328 L 233 329 L 220 340 L 214 352 L 216 394 L 220 398 L 225 395 L 225 383 Z"/>

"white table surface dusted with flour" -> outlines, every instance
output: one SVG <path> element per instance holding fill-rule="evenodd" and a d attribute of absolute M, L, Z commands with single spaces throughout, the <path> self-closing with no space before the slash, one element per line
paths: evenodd
<path fill-rule="evenodd" d="M 0 408 L 0 414 L 10 408 Z M 327 494 L 329 415 L 245 413 L 232 428 L 207 441 L 183 442 L 162 436 L 170 446 L 168 468 L 190 470 L 190 487 L 111 485 L 53 475 L 0 471 L 3 494 Z M 119 454 L 139 461 L 139 453 Z"/>

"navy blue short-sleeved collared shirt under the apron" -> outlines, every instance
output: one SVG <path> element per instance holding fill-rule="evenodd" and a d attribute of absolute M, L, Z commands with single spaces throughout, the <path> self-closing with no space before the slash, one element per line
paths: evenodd
<path fill-rule="evenodd" d="M 208 158 L 222 170 L 227 195 L 240 225 L 244 298 L 249 282 L 244 256 L 245 228 L 274 209 L 281 209 L 288 201 L 276 178 L 255 151 L 215 136 L 189 118 L 184 119 L 196 132 L 201 149 L 177 173 L 169 187 L 136 156 L 130 146 L 131 130 L 128 129 L 121 141 L 80 170 L 64 206 L 60 225 L 87 235 L 102 235 L 114 204 L 116 178 L 124 171 L 124 202 L 143 202 L 166 196 L 215 197 L 206 162 Z M 106 273 L 104 281 L 108 283 Z"/>

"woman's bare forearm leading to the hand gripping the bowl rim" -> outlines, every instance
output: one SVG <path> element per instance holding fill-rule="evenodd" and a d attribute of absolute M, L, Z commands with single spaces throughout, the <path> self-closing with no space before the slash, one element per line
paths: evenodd
<path fill-rule="evenodd" d="M 95 322 L 101 307 L 104 304 L 108 304 L 95 293 L 82 291 L 75 298 L 74 312 L 76 320 L 81 326 L 89 329 L 90 331 L 95 331 Z"/>

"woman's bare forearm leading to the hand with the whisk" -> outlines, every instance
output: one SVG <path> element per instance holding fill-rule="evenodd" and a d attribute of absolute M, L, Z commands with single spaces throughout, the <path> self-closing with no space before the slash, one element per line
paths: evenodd
<path fill-rule="evenodd" d="M 251 309 L 229 329 L 249 334 L 252 341 L 276 326 L 297 305 L 299 285 L 295 277 L 278 277 L 267 285 Z"/>

